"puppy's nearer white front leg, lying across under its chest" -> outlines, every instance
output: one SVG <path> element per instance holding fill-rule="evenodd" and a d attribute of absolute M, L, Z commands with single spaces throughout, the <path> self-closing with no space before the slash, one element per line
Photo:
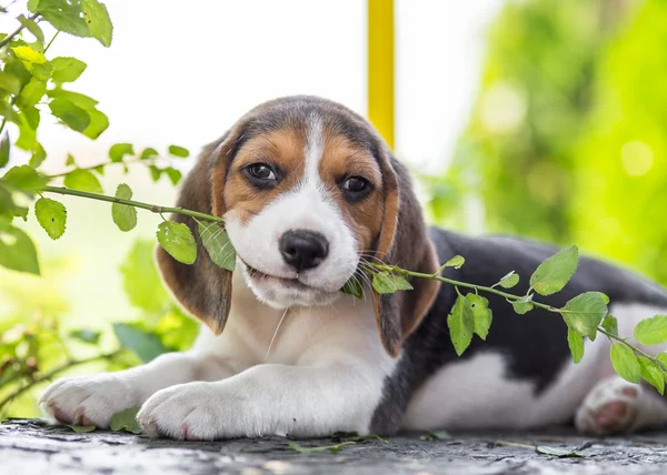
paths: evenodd
<path fill-rule="evenodd" d="M 186 439 L 367 434 L 384 376 L 359 362 L 265 364 L 221 382 L 162 390 L 137 418 L 150 436 Z"/>

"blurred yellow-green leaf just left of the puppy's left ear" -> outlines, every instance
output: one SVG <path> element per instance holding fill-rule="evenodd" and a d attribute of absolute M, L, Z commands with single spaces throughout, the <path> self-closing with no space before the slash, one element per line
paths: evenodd
<path fill-rule="evenodd" d="M 122 286 L 130 303 L 149 314 L 161 314 L 169 296 L 153 261 L 155 241 L 137 240 L 120 265 Z"/>

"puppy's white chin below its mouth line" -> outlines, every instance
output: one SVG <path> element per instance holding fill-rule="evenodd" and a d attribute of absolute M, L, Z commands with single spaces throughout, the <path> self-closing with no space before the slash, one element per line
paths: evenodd
<path fill-rule="evenodd" d="M 328 305 L 342 294 L 310 286 L 298 279 L 270 275 L 242 263 L 243 279 L 257 300 L 275 309 Z"/>

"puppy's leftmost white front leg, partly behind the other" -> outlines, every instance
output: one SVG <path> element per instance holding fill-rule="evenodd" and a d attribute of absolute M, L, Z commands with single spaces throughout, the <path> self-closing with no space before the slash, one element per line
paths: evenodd
<path fill-rule="evenodd" d="M 159 390 L 231 374 L 232 368 L 219 356 L 168 353 L 131 370 L 64 377 L 47 388 L 39 404 L 53 422 L 108 427 L 113 414 L 140 406 Z"/>

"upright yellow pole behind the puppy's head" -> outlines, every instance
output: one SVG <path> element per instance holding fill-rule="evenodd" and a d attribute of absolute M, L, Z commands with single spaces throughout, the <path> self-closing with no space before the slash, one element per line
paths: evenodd
<path fill-rule="evenodd" d="M 368 0 L 368 119 L 394 149 L 394 0 Z"/>

